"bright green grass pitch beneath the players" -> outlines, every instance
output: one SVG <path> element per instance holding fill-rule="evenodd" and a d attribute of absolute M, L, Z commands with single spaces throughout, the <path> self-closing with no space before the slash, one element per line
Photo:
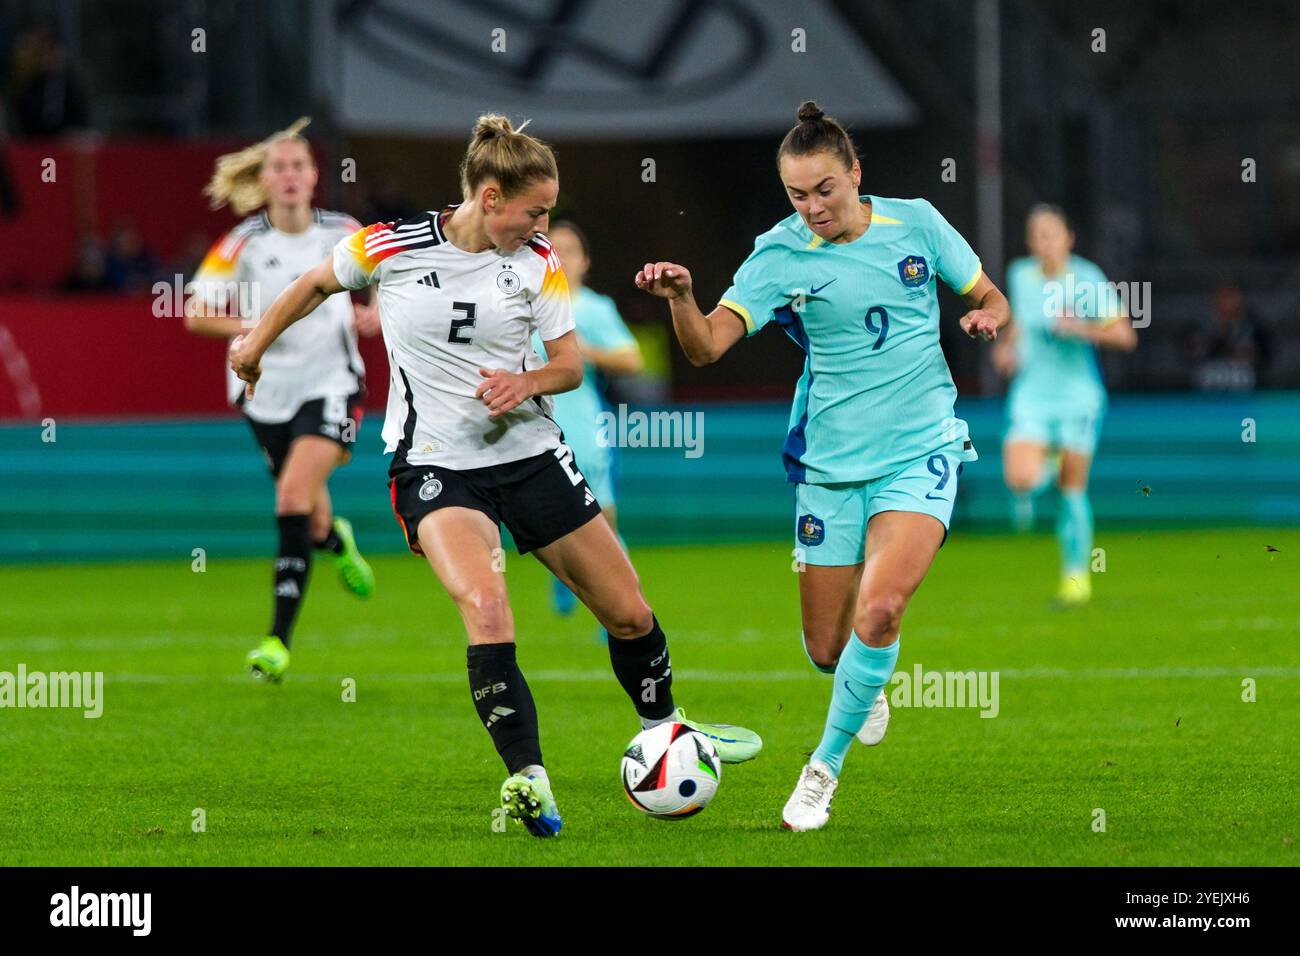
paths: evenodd
<path fill-rule="evenodd" d="M 766 740 L 676 822 L 620 792 L 637 723 L 593 619 L 556 619 L 540 566 L 511 554 L 564 814 L 549 842 L 493 826 L 504 771 L 474 719 L 459 617 L 421 561 L 378 558 L 369 602 L 318 562 L 280 687 L 242 674 L 268 617 L 265 561 L 9 567 L 0 670 L 104 671 L 105 685 L 99 719 L 0 710 L 0 864 L 1300 864 L 1300 533 L 1097 542 L 1093 605 L 1056 613 L 1050 537 L 949 540 L 904 620 L 900 670 L 997 671 L 1000 713 L 896 710 L 884 744 L 854 744 L 814 834 L 779 826 L 831 689 L 800 648 L 788 545 L 633 551 L 679 702 Z"/>

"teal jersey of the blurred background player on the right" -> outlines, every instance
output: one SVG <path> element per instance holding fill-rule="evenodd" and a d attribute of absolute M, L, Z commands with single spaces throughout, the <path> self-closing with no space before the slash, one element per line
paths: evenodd
<path fill-rule="evenodd" d="M 1052 326 L 1062 315 L 1098 323 L 1117 316 L 1121 308 L 1105 273 L 1072 255 L 1065 272 L 1048 278 L 1036 259 L 1017 259 L 1006 268 L 1006 297 L 1018 326 L 1010 401 L 1044 412 L 1102 408 L 1106 390 L 1096 346 L 1056 336 Z"/>

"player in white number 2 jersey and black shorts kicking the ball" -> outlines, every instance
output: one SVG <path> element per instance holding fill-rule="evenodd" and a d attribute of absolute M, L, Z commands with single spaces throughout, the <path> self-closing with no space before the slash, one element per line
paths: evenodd
<path fill-rule="evenodd" d="M 559 832 L 537 708 L 515 657 L 500 523 L 610 633 L 614 672 L 642 726 L 684 722 L 663 630 L 601 506 L 560 441 L 551 395 L 577 386 L 582 355 L 559 256 L 542 235 L 559 194 L 551 148 L 502 116 L 480 117 L 460 168 L 463 202 L 378 222 L 292 282 L 230 351 L 250 382 L 292 323 L 346 289 L 378 286 L 391 380 L 384 437 L 390 496 L 411 550 L 456 602 L 469 689 L 510 773 L 507 813 Z M 529 338 L 541 333 L 550 362 Z M 760 748 L 753 731 L 690 722 L 725 761 Z"/>

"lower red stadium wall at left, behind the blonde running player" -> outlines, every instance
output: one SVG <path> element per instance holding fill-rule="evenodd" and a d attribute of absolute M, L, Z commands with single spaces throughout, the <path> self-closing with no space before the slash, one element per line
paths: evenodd
<path fill-rule="evenodd" d="M 382 339 L 361 356 L 382 408 Z M 221 414 L 225 388 L 225 343 L 156 317 L 151 297 L 0 297 L 0 420 Z"/>

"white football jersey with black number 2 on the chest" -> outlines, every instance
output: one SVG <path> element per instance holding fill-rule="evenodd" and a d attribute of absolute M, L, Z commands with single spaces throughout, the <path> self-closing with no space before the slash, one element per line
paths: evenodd
<path fill-rule="evenodd" d="M 542 341 L 573 329 L 559 256 L 542 235 L 510 255 L 467 252 L 446 238 L 439 219 L 424 212 L 377 222 L 334 247 L 341 285 L 378 285 L 390 369 L 386 450 L 395 464 L 455 470 L 550 451 L 560 444 L 550 395 L 493 420 L 474 392 L 480 368 L 542 367 L 534 329 Z"/>

